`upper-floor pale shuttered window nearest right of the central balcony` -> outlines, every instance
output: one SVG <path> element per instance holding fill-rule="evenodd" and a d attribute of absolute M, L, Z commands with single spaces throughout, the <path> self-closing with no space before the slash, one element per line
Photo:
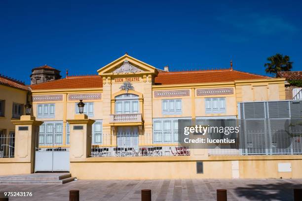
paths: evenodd
<path fill-rule="evenodd" d="M 165 99 L 161 103 L 162 114 L 182 114 L 181 99 Z"/>

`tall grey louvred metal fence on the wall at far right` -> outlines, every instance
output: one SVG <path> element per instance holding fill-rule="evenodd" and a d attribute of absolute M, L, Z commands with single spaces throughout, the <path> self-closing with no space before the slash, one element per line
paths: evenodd
<path fill-rule="evenodd" d="M 302 154 L 302 101 L 238 103 L 242 155 Z"/>

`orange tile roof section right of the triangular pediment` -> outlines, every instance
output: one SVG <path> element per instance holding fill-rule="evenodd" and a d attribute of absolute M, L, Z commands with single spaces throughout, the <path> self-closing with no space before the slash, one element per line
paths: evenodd
<path fill-rule="evenodd" d="M 210 82 L 231 82 L 235 80 L 265 79 L 263 75 L 256 75 L 231 69 L 222 70 L 199 70 L 165 72 L 160 71 L 155 77 L 155 85 L 164 84 L 192 84 Z"/>

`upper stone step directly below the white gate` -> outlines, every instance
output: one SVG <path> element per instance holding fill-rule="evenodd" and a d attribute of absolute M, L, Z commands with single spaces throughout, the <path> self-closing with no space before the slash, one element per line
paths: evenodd
<path fill-rule="evenodd" d="M 59 181 L 70 177 L 71 173 L 34 173 L 1 176 L 0 181 Z"/>

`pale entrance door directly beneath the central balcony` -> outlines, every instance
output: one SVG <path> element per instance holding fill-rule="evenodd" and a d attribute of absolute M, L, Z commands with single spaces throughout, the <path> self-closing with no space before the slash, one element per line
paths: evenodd
<path fill-rule="evenodd" d="M 117 147 L 138 149 L 138 127 L 117 127 Z"/>

